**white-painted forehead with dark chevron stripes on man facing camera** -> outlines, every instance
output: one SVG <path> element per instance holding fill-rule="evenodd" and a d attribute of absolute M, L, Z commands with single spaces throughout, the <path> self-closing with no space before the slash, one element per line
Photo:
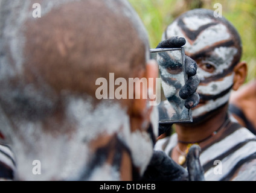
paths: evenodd
<path fill-rule="evenodd" d="M 231 34 L 225 25 L 202 16 L 179 18 L 168 26 L 164 38 L 172 36 L 186 39 L 184 48 L 187 55 L 196 54 L 202 49 L 231 39 Z"/>

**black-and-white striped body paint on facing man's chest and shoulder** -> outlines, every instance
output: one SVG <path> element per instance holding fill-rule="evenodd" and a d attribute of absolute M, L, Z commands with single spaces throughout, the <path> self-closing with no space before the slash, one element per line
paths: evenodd
<path fill-rule="evenodd" d="M 241 165 L 246 165 L 247 162 L 255 163 L 256 139 L 254 134 L 234 122 L 229 125 L 228 130 L 231 131 L 231 134 L 223 134 L 222 140 L 217 140 L 216 143 L 205 148 L 200 154 L 200 163 L 205 172 L 205 180 L 255 180 L 254 166 L 249 166 L 247 171 L 245 169 L 244 173 L 238 176 L 234 175 Z M 174 133 L 168 138 L 160 139 L 155 145 L 155 150 L 162 150 L 167 155 L 170 155 L 177 143 L 178 135 Z M 216 174 L 217 169 L 215 168 L 218 165 L 214 164 L 216 160 L 222 165 L 222 168 L 220 168 L 221 173 L 218 174 Z"/>

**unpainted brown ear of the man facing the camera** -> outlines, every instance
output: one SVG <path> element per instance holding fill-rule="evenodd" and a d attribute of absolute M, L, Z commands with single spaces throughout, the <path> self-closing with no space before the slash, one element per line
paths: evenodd
<path fill-rule="evenodd" d="M 234 68 L 234 84 L 232 89 L 237 90 L 245 82 L 247 76 L 247 63 L 240 62 Z"/>

